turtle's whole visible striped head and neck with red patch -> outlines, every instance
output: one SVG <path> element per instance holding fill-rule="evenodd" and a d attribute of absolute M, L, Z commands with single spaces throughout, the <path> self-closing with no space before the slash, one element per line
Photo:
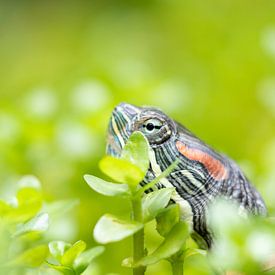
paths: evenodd
<path fill-rule="evenodd" d="M 238 202 L 240 210 L 266 215 L 263 199 L 234 161 L 215 152 L 159 109 L 118 105 L 110 119 L 107 153 L 119 156 L 135 131 L 141 131 L 150 144 L 150 168 L 141 185 L 179 160 L 177 168 L 156 187 L 175 187 L 172 201 L 180 205 L 181 216 L 189 222 L 201 247 L 210 248 L 213 243 L 206 211 L 218 196 Z"/>

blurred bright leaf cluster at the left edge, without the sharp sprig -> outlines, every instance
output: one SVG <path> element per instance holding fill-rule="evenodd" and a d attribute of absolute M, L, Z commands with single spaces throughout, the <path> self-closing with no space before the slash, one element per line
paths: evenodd
<path fill-rule="evenodd" d="M 49 227 L 49 215 L 42 210 L 40 182 L 25 176 L 16 195 L 0 200 L 0 267 L 4 270 L 40 266 L 48 255 L 47 244 L 40 242 Z"/>

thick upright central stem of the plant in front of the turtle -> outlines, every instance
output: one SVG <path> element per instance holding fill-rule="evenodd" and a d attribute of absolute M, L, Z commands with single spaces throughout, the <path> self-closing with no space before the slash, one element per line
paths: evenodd
<path fill-rule="evenodd" d="M 137 222 L 142 222 L 141 197 L 132 199 L 133 218 Z M 139 230 L 133 236 L 133 258 L 134 262 L 139 261 L 144 257 L 144 229 Z M 133 269 L 133 275 L 143 275 L 145 267 L 137 267 Z"/>

